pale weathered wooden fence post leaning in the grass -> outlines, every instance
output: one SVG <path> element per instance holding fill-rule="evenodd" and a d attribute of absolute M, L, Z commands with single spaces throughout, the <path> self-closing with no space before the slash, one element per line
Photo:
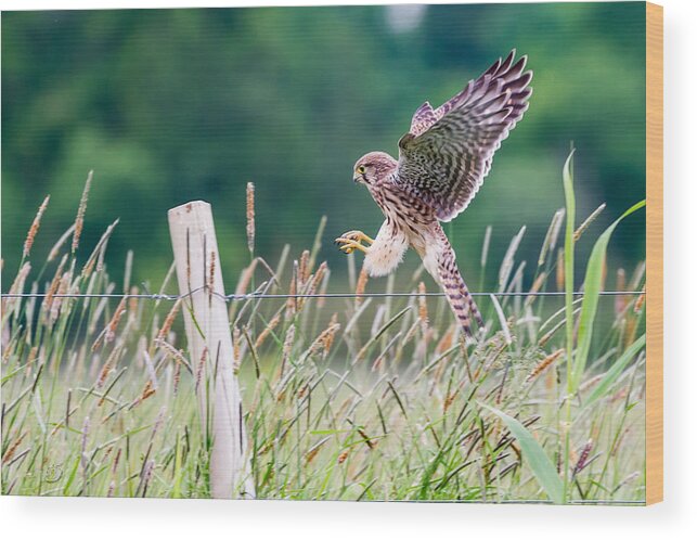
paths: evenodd
<path fill-rule="evenodd" d="M 212 437 L 210 492 L 253 498 L 242 400 L 234 372 L 228 306 L 210 205 L 194 201 L 168 213 L 179 293 L 204 434 Z M 205 357 L 205 358 L 204 358 Z M 202 361 L 202 359 L 204 359 Z"/>

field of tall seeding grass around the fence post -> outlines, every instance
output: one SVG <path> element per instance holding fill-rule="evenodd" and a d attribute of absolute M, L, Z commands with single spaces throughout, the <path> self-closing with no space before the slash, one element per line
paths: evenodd
<path fill-rule="evenodd" d="M 531 283 L 516 260 L 524 230 L 500 265 L 485 240 L 481 273 L 498 274 L 499 293 L 566 294 L 478 297 L 487 329 L 476 343 L 461 339 L 438 296 L 230 303 L 257 497 L 644 501 L 644 296 L 601 294 L 641 291 L 644 265 L 606 275 L 615 226 L 597 234 L 594 216 L 575 215 L 571 158 L 563 180 L 566 208 L 527 261 Z M 188 352 L 185 300 L 60 296 L 144 292 L 128 268 L 124 284 L 109 281 L 114 228 L 78 267 L 88 191 L 37 263 L 39 211 L 16 278 L 3 280 L 10 293 L 46 296 L 2 299 L 2 493 L 209 497 L 196 407 L 208 375 Z M 595 248 L 575 280 L 580 239 Z M 366 283 L 353 256 L 348 283 L 333 283 L 319 241 L 276 261 L 253 244 L 240 294 L 395 286 Z M 423 279 L 410 290 L 435 291 Z M 175 282 L 170 270 L 159 292 Z M 584 295 L 571 294 L 575 282 Z"/>

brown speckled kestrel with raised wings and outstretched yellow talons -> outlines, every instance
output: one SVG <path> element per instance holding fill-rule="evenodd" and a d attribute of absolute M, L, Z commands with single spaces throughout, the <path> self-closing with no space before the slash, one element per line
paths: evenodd
<path fill-rule="evenodd" d="M 438 108 L 426 102 L 399 141 L 399 159 L 384 152 L 361 157 L 353 180 L 365 184 L 385 221 L 375 240 L 361 231 L 336 239 L 345 253 L 365 253 L 371 277 L 386 275 L 411 246 L 443 288 L 465 335 L 470 314 L 483 321 L 457 269 L 440 221 L 450 221 L 472 202 L 501 142 L 528 110 L 532 72 L 513 50 Z M 363 245 L 362 242 L 367 245 Z"/>

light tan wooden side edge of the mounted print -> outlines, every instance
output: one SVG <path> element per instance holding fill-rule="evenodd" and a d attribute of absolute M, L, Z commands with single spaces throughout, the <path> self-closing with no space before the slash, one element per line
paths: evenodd
<path fill-rule="evenodd" d="M 663 500 L 663 8 L 646 3 L 646 503 Z"/>

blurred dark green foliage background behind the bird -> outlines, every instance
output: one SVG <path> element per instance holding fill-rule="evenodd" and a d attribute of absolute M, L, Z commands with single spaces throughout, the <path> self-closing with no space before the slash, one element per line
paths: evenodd
<path fill-rule="evenodd" d="M 644 197 L 644 41 L 641 2 L 5 12 L 5 271 L 14 272 L 43 196 L 52 198 L 41 256 L 73 222 L 94 169 L 82 242 L 93 245 L 120 218 L 113 274 L 133 249 L 135 282 L 157 283 L 171 261 L 167 209 L 204 198 L 233 275 L 248 260 L 247 181 L 256 183 L 258 254 L 274 261 L 285 243 L 310 247 L 326 215 L 322 255 L 340 272 L 331 241 L 382 222 L 351 182 L 356 159 L 395 154 L 423 101 L 440 104 L 516 48 L 534 70 L 530 110 L 476 201 L 447 226 L 476 283 L 487 224 L 490 257 L 500 259 L 522 224 L 520 250 L 537 257 L 563 206 L 570 141 L 579 219 L 607 202 L 599 231 Z M 581 244 L 583 261 L 590 245 Z M 644 258 L 643 217 L 618 230 L 610 252 L 630 269 Z"/>

